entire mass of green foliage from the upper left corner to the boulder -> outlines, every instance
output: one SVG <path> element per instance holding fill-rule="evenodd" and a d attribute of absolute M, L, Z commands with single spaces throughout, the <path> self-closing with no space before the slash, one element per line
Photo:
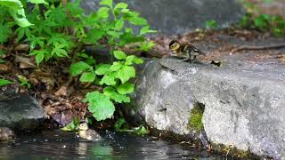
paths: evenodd
<path fill-rule="evenodd" d="M 0 0 L 0 18 L 0 44 L 29 44 L 28 55 L 35 57 L 38 68 L 51 61 L 71 61 L 70 76 L 100 88 L 86 93 L 84 100 L 97 121 L 112 117 L 115 104 L 130 102 L 128 94 L 134 92 L 130 82 L 135 77 L 134 65 L 143 60 L 124 52 L 124 47 L 135 44 L 136 51 L 149 51 L 154 44 L 144 35 L 156 32 L 138 12 L 128 9 L 128 4 L 114 4 L 112 0 L 102 0 L 98 11 L 88 15 L 78 0 L 67 4 L 57 0 Z M 132 26 L 140 28 L 139 32 L 134 33 Z M 85 52 L 85 45 L 109 50 L 111 62 L 96 63 Z M 1 50 L 2 54 L 11 51 Z M 30 87 L 27 79 L 19 80 Z M 2 79 L 0 83 L 11 82 Z"/>

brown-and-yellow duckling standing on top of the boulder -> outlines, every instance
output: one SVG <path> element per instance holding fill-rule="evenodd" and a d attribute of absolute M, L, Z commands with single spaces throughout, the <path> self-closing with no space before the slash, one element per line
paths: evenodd
<path fill-rule="evenodd" d="M 196 57 L 199 55 L 206 56 L 204 52 L 201 52 L 197 47 L 191 44 L 180 44 L 178 41 L 173 40 L 169 43 L 169 49 L 173 52 L 175 52 L 176 56 L 186 56 L 185 60 L 191 60 L 191 55 L 193 55 L 193 59 L 191 60 L 191 63 L 196 61 Z"/>

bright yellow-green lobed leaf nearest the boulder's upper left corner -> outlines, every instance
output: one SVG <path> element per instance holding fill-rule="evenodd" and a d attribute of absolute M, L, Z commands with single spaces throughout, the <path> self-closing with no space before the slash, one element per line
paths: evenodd
<path fill-rule="evenodd" d="M 135 69 L 132 66 L 124 66 L 117 71 L 117 75 L 122 84 L 125 84 L 131 77 L 135 77 Z"/>

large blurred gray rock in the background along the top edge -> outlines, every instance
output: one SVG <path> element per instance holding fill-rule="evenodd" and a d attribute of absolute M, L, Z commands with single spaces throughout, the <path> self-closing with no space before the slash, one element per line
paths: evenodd
<path fill-rule="evenodd" d="M 100 0 L 82 0 L 87 12 L 98 9 Z M 175 35 L 205 28 L 207 20 L 216 20 L 219 28 L 238 22 L 244 13 L 237 0 L 115 0 L 125 2 L 142 13 L 151 28 L 159 33 Z"/>

